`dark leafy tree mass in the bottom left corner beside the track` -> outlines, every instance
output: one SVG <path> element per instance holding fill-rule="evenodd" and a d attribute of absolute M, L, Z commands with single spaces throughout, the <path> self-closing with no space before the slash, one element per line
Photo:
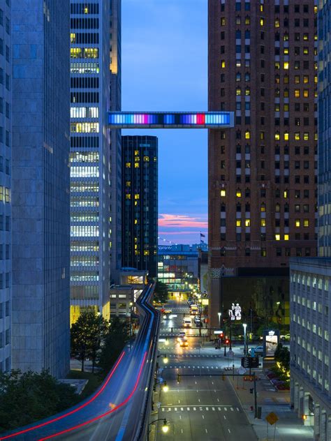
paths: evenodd
<path fill-rule="evenodd" d="M 30 424 L 78 403 L 75 388 L 48 371 L 0 373 L 0 431 Z"/>

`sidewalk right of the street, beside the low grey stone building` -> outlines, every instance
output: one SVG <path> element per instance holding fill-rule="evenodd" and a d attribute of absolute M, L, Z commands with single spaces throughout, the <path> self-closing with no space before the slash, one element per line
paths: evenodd
<path fill-rule="evenodd" d="M 254 419 L 254 412 L 251 406 L 254 405 L 254 394 L 250 394 L 249 389 L 253 387 L 253 382 L 244 381 L 242 378 L 228 376 L 228 380 L 233 386 L 238 399 L 247 418 L 260 441 L 310 441 L 313 440 L 313 428 L 302 424 L 297 414 L 290 410 L 290 392 L 277 391 L 272 386 L 270 380 L 261 370 L 256 371 L 256 376 L 260 380 L 256 381 L 258 393 L 258 407 L 262 408 L 261 419 Z M 279 420 L 273 426 L 267 425 L 265 417 L 270 412 L 277 414 Z M 267 428 L 268 426 L 268 428 Z M 267 434 L 268 430 L 268 434 Z M 267 435 L 269 438 L 267 438 Z"/>

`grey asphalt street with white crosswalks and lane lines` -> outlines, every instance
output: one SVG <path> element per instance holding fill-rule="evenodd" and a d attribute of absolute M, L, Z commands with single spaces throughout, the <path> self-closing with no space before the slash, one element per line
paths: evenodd
<path fill-rule="evenodd" d="M 172 302 L 170 307 L 174 314 L 189 313 L 185 302 Z M 171 321 L 163 320 L 160 334 L 166 335 L 170 327 L 180 327 L 181 323 L 182 315 Z M 163 423 L 159 421 L 156 440 L 256 441 L 232 385 L 221 375 L 223 367 L 235 364 L 236 370 L 240 366 L 243 348 L 233 347 L 235 354 L 229 359 L 224 357 L 223 348 L 215 350 L 206 341 L 203 343 L 198 329 L 186 330 L 186 334 L 189 347 L 179 347 L 176 338 L 168 338 L 167 342 L 161 338 L 159 343 L 159 377 L 167 382 L 169 390 L 160 392 L 157 386 L 154 406 L 158 413 L 152 415 L 151 421 L 166 418 L 169 431 L 163 434 Z M 168 364 L 163 363 L 165 354 Z"/>

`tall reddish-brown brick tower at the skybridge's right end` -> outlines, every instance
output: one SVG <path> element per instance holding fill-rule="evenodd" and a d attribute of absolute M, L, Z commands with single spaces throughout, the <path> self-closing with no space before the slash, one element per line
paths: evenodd
<path fill-rule="evenodd" d="M 316 255 L 315 3 L 209 0 L 209 110 L 235 112 L 209 131 L 215 326 L 230 277 L 244 313 L 288 324 L 289 257 Z"/>

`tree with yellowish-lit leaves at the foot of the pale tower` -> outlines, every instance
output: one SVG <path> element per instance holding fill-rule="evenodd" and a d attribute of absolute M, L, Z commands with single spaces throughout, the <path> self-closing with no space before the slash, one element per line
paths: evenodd
<path fill-rule="evenodd" d="M 93 308 L 81 313 L 77 322 L 72 325 L 71 356 L 82 361 L 82 372 L 84 372 L 84 361 L 87 357 L 91 357 L 92 372 L 94 372 L 98 350 L 107 327 L 106 320 Z"/>

